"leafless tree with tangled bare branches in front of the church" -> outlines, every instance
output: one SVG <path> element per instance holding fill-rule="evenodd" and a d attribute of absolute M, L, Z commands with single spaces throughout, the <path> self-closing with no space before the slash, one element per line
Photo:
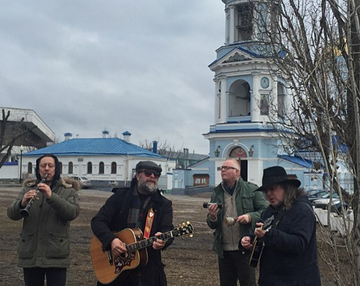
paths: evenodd
<path fill-rule="evenodd" d="M 253 3 L 259 53 L 267 60 L 275 91 L 283 88 L 289 98 L 281 102 L 278 92 L 271 93 L 270 124 L 278 131 L 276 136 L 286 151 L 306 150 L 312 154 L 313 169 L 320 164 L 328 175 L 327 187 L 339 194 L 340 201 L 351 204 L 353 228 L 347 229 L 343 238 L 347 260 L 351 262 L 350 276 L 342 273 L 336 252 L 338 241 L 331 226 L 323 237 L 332 252 L 322 258 L 333 270 L 337 285 L 359 286 L 360 1 Z M 338 161 L 353 175 L 352 195 L 340 187 Z M 345 225 L 345 212 L 342 213 Z M 329 215 L 330 212 L 328 221 Z"/>

